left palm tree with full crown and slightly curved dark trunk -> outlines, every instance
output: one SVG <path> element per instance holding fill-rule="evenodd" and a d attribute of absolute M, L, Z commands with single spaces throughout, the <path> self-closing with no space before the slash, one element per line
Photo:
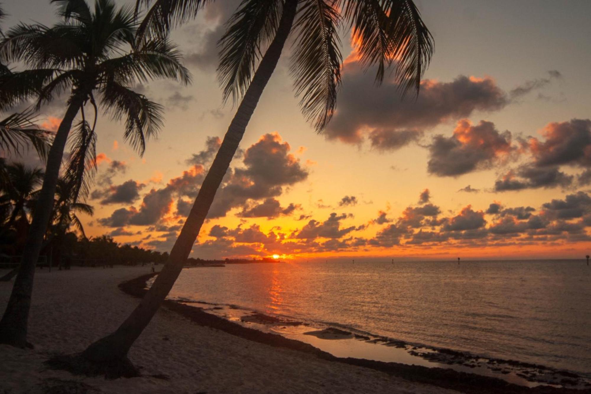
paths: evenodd
<path fill-rule="evenodd" d="M 163 124 L 162 106 L 135 92 L 132 86 L 149 79 L 170 78 L 190 82 L 180 63 L 180 53 L 166 37 L 137 41 L 138 27 L 132 9 L 116 8 L 112 0 L 96 0 L 94 9 L 85 0 L 52 0 L 61 21 L 51 27 L 18 24 L 0 43 L 0 62 L 21 62 L 27 69 L 14 72 L 2 84 L 0 105 L 14 105 L 35 98 L 35 108 L 69 92 L 66 112 L 48 153 L 43 186 L 35 207 L 22 263 L 7 309 L 0 321 L 0 342 L 27 345 L 27 320 L 38 259 L 54 203 L 57 178 L 70 128 L 85 105 L 125 120 L 124 138 L 139 154 L 147 138 Z"/>

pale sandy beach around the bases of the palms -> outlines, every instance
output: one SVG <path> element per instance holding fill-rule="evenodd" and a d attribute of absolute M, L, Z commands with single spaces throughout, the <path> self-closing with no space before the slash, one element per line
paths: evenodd
<path fill-rule="evenodd" d="M 106 380 L 43 365 L 53 353 L 82 351 L 115 330 L 139 301 L 122 293 L 118 283 L 149 271 L 150 267 L 38 270 L 29 324 L 35 348 L 0 345 L 0 393 L 42 393 L 58 385 L 56 379 L 82 382 L 90 386 L 89 393 L 453 393 L 254 343 L 201 327 L 165 308 L 129 353 L 144 377 Z M 1 312 L 11 288 L 12 282 L 0 282 Z M 147 376 L 153 374 L 168 375 L 170 380 Z"/>

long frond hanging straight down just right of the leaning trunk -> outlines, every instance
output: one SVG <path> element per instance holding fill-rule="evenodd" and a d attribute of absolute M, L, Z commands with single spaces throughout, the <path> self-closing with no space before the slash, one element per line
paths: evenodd
<path fill-rule="evenodd" d="M 320 132 L 332 118 L 340 85 L 339 12 L 324 0 L 301 2 L 294 25 L 296 50 L 291 75 L 307 120 Z"/>

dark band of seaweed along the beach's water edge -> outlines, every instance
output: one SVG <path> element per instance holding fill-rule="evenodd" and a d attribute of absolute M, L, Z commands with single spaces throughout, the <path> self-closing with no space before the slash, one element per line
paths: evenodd
<path fill-rule="evenodd" d="M 132 280 L 119 284 L 119 289 L 128 295 L 141 298 L 147 292 L 146 282 L 157 273 L 145 274 Z M 271 345 L 273 347 L 288 348 L 307 354 L 312 354 L 319 359 L 334 361 L 353 366 L 366 367 L 400 377 L 410 382 L 425 383 L 438 386 L 444 389 L 458 390 L 460 392 L 480 393 L 583 393 L 591 392 L 589 389 L 566 389 L 547 385 L 537 387 L 525 387 L 505 380 L 483 376 L 475 373 L 458 372 L 452 369 L 440 367 L 425 367 L 395 362 L 375 361 L 368 359 L 357 359 L 354 357 L 336 357 L 326 351 L 320 350 L 313 345 L 285 338 L 280 334 L 272 334 L 255 330 L 254 328 L 243 327 L 240 324 L 229 321 L 203 311 L 198 306 L 190 306 L 185 303 L 167 299 L 164 305 L 171 311 L 177 312 L 183 317 L 189 318 L 197 325 L 215 328 L 216 330 L 236 335 L 246 340 Z M 519 361 L 512 361 L 519 363 Z M 522 365 L 525 363 L 521 363 Z M 533 364 L 532 364 L 533 366 Z"/>

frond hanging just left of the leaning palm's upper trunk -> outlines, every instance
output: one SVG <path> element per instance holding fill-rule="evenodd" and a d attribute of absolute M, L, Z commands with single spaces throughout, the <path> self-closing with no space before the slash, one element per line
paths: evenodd
<path fill-rule="evenodd" d="M 220 38 L 220 63 L 217 76 L 223 99 L 236 102 L 251 83 L 256 62 L 275 37 L 283 2 L 278 0 L 243 0 L 228 21 L 228 30 Z"/>

